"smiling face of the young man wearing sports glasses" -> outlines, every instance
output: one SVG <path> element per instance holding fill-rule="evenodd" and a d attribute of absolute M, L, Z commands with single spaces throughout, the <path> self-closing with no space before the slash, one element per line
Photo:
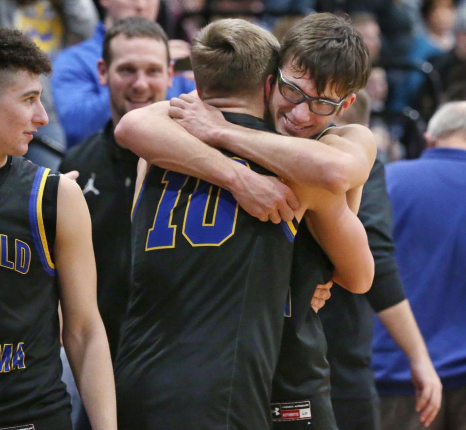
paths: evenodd
<path fill-rule="evenodd" d="M 335 103 L 341 100 L 341 97 L 336 94 L 330 85 L 327 85 L 323 94 L 317 94 L 309 73 L 303 74 L 301 71 L 296 70 L 291 63 L 284 64 L 281 70 L 286 81 L 298 86 L 309 97 L 318 97 Z M 276 80 L 269 91 L 268 107 L 277 132 L 286 136 L 308 138 L 322 132 L 332 123 L 333 118 L 341 115 L 353 101 L 354 95 L 350 95 L 332 115 L 317 115 L 309 110 L 309 105 L 305 100 L 295 104 L 284 99 L 278 88 L 278 80 Z"/>

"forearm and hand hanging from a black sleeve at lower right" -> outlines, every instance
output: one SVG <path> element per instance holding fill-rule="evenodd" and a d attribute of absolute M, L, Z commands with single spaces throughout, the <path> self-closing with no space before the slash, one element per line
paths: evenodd
<path fill-rule="evenodd" d="M 442 383 L 435 372 L 426 344 L 417 327 L 407 299 L 378 313 L 382 324 L 404 351 L 411 366 L 416 388 L 416 411 L 419 420 L 429 426 L 440 409 Z"/>

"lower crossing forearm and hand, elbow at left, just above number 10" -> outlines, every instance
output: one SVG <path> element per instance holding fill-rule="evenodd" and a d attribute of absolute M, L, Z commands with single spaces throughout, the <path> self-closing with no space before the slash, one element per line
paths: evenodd
<path fill-rule="evenodd" d="M 293 219 L 300 204 L 277 178 L 259 175 L 201 142 L 167 116 L 168 102 L 136 109 L 116 126 L 116 140 L 149 164 L 195 176 L 229 190 L 262 221 Z"/>

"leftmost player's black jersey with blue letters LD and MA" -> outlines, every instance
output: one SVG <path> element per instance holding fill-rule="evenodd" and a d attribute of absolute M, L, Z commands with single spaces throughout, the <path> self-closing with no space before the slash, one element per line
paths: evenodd
<path fill-rule="evenodd" d="M 59 177 L 21 157 L 0 172 L 0 428 L 68 430 L 52 258 Z"/>

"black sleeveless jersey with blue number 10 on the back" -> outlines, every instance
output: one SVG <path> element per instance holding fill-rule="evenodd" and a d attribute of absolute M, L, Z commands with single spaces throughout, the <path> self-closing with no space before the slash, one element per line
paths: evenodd
<path fill-rule="evenodd" d="M 252 116 L 225 117 L 266 130 Z M 150 167 L 133 210 L 116 359 L 120 430 L 271 425 L 296 226 L 261 222 L 224 189 Z"/>

